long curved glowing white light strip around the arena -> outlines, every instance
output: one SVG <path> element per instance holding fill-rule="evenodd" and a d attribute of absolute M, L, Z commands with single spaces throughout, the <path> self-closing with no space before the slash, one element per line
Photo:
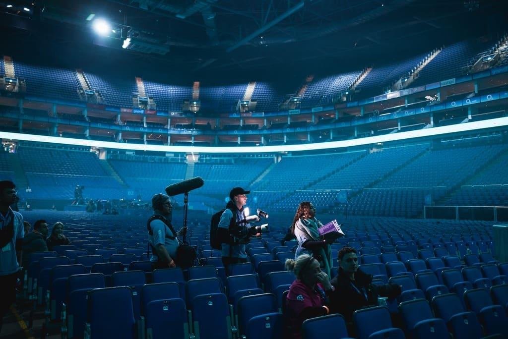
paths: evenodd
<path fill-rule="evenodd" d="M 467 132 L 475 129 L 493 128 L 508 126 L 508 117 L 467 122 L 450 126 L 432 127 L 407 132 L 399 132 L 385 135 L 375 135 L 374 137 L 332 141 L 326 143 L 303 144 L 303 145 L 279 145 L 279 146 L 244 146 L 244 147 L 216 147 L 216 146 L 162 146 L 162 145 L 142 145 L 142 144 L 121 144 L 109 141 L 84 140 L 60 137 L 48 137 L 46 135 L 24 134 L 0 132 L 0 138 L 19 141 L 33 141 L 50 144 L 63 144 L 73 146 L 90 146 L 99 148 L 110 148 L 119 150 L 137 150 L 137 151 L 157 151 L 157 152 L 182 152 L 182 153 L 276 153 L 276 152 L 296 152 L 323 150 L 330 148 L 354 147 L 362 145 L 371 145 L 376 143 L 386 143 L 398 140 L 407 140 L 413 138 L 432 137 L 434 135 Z"/>

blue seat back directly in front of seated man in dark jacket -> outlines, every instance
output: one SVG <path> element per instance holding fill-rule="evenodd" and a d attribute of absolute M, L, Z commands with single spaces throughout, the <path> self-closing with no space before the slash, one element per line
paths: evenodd
<path fill-rule="evenodd" d="M 353 314 L 358 339 L 368 339 L 377 331 L 391 328 L 390 312 L 385 306 L 358 310 Z"/>

